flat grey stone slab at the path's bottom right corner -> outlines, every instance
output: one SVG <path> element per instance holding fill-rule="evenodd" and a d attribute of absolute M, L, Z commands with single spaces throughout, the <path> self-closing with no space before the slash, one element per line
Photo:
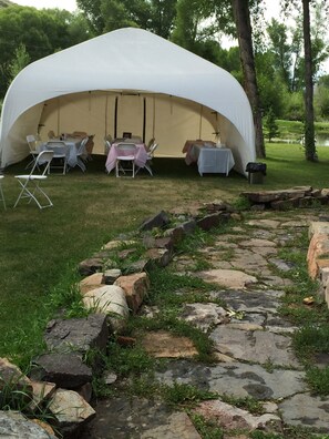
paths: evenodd
<path fill-rule="evenodd" d="M 329 398 L 310 394 L 294 395 L 279 404 L 284 422 L 292 426 L 311 427 L 322 432 L 329 431 Z"/>

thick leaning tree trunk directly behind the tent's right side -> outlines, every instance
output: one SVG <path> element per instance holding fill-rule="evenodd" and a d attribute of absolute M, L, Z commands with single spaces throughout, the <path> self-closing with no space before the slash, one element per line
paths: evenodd
<path fill-rule="evenodd" d="M 265 144 L 261 125 L 261 109 L 256 79 L 255 58 L 253 49 L 253 32 L 249 13 L 249 0 L 232 0 L 234 19 L 237 29 L 240 61 L 245 78 L 246 93 L 249 99 L 256 133 L 256 154 L 264 159 Z"/>

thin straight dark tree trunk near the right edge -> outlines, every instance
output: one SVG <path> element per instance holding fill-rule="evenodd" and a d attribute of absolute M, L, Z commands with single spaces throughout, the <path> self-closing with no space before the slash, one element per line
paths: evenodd
<path fill-rule="evenodd" d="M 309 0 L 302 0 L 302 31 L 305 52 L 305 155 L 317 161 L 315 140 L 313 79 L 310 39 Z"/>

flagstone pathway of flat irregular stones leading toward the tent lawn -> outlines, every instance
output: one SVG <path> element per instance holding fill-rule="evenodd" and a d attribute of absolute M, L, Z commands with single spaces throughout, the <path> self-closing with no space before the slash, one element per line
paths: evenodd
<path fill-rule="evenodd" d="M 182 318 L 214 341 L 218 363 L 196 363 L 194 346 L 166 331 L 150 334 L 144 340 L 151 355 L 171 358 L 166 369 L 156 372 L 160 382 L 193 385 L 234 398 L 253 397 L 263 404 L 261 416 L 220 398 L 199 404 L 194 412 L 220 426 L 224 438 L 248 438 L 257 428 L 266 431 L 274 426 L 279 432 L 287 425 L 329 433 L 329 398 L 310 394 L 291 349 L 290 335 L 296 328 L 278 314 L 284 287 L 291 283 L 278 275 L 291 269 L 278 257 L 278 248 L 294 242 L 317 218 L 306 214 L 274 216 L 255 213 L 253 220 L 203 248 L 212 269 L 189 273 L 193 262 L 186 255 L 172 263 L 177 273 L 218 285 L 210 293 L 214 302 L 186 304 L 182 309 Z M 225 303 L 225 308 L 215 299 Z M 153 317 L 160 310 L 144 306 L 142 312 Z M 173 411 L 160 401 L 121 396 L 100 400 L 95 410 L 97 416 L 81 439 L 202 438 L 186 412 Z"/>

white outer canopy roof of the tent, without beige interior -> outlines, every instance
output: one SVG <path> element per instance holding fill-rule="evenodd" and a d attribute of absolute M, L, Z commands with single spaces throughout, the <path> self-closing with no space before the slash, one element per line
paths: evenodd
<path fill-rule="evenodd" d="M 255 160 L 247 95 L 217 65 L 145 30 L 119 29 L 29 64 L 11 83 L 2 109 L 2 166 L 12 163 L 10 133 L 19 118 L 47 100 L 83 91 L 155 92 L 195 101 L 223 114 Z"/>

